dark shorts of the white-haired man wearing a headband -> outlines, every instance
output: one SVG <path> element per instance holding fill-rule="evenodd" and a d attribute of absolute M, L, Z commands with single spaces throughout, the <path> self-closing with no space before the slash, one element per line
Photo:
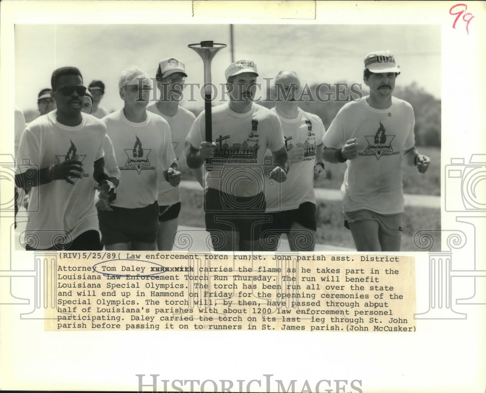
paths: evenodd
<path fill-rule="evenodd" d="M 158 231 L 158 203 L 128 209 L 111 206 L 113 211 L 98 210 L 104 244 L 139 241 L 153 243 Z"/>

